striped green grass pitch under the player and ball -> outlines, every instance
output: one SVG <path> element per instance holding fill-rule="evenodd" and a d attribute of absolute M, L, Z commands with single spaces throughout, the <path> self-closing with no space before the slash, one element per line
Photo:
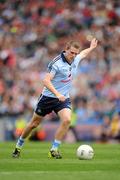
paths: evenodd
<path fill-rule="evenodd" d="M 13 159 L 15 143 L 0 143 L 0 180 L 118 180 L 120 144 L 91 144 L 92 160 L 78 160 L 77 147 L 62 144 L 63 159 L 48 159 L 48 142 L 26 142 L 21 158 Z"/>

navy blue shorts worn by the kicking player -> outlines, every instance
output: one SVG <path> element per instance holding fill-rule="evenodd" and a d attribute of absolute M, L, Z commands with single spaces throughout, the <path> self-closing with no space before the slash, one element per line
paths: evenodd
<path fill-rule="evenodd" d="M 59 101 L 58 98 L 41 95 L 38 99 L 35 113 L 40 116 L 45 116 L 46 114 L 49 114 L 52 111 L 54 111 L 57 114 L 58 111 L 64 108 L 71 109 L 70 98 L 67 98 L 64 102 L 62 102 Z"/>

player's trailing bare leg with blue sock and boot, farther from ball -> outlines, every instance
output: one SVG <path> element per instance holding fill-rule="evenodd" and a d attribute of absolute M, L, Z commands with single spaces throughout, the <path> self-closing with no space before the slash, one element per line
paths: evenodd
<path fill-rule="evenodd" d="M 13 157 L 17 158 L 20 156 L 20 151 L 23 147 L 25 139 L 29 136 L 31 131 L 39 125 L 41 121 L 42 117 L 34 113 L 30 123 L 27 125 L 27 127 L 25 128 L 25 130 L 23 131 L 22 135 L 19 137 L 16 143 L 15 150 L 12 154 Z"/>

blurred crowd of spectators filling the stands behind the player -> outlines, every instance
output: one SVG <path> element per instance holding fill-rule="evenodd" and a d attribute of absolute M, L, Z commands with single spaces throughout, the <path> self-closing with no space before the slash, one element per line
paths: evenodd
<path fill-rule="evenodd" d="M 120 116 L 120 1 L 0 1 L 0 116 L 32 113 L 49 61 L 69 40 L 82 50 L 93 37 L 98 47 L 80 63 L 71 98 L 76 124 L 104 125 Z"/>

